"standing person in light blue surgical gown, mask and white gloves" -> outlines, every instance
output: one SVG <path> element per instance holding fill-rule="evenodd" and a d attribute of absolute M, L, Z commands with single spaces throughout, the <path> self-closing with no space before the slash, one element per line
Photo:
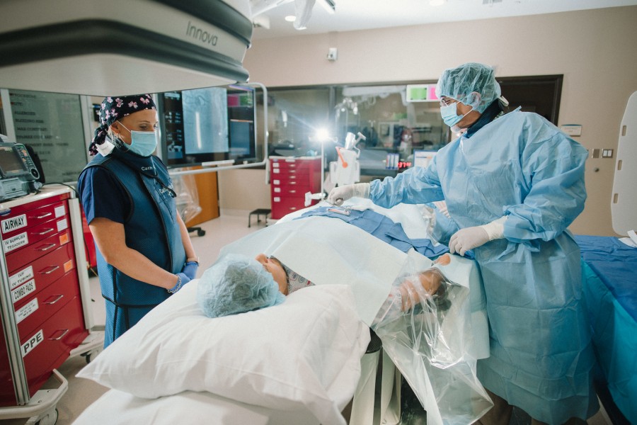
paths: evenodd
<path fill-rule="evenodd" d="M 512 407 L 534 423 L 583 423 L 597 412 L 594 357 L 581 299 L 580 250 L 566 229 L 584 208 L 587 151 L 535 113 L 503 113 L 493 69 L 447 69 L 437 96 L 461 135 L 427 168 L 334 188 L 328 201 L 445 200 L 458 229 L 452 253 L 473 250 L 484 281 L 490 357 L 478 378 L 495 406 L 483 424 L 508 424 Z"/>

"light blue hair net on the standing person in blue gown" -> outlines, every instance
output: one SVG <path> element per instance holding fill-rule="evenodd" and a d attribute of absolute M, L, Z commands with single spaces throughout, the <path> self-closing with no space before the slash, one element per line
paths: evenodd
<path fill-rule="evenodd" d="M 479 113 L 483 113 L 501 95 L 493 68 L 475 62 L 445 69 L 436 85 L 437 97 L 454 98 Z"/>

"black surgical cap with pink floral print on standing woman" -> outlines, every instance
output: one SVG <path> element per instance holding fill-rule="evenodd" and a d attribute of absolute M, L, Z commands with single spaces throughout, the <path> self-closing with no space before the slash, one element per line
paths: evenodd
<path fill-rule="evenodd" d="M 100 108 L 100 126 L 95 130 L 91 145 L 88 147 L 88 153 L 91 155 L 98 153 L 96 145 L 101 145 L 104 142 L 111 124 L 132 113 L 144 111 L 144 109 L 157 110 L 155 102 L 149 94 L 105 97 Z"/>

